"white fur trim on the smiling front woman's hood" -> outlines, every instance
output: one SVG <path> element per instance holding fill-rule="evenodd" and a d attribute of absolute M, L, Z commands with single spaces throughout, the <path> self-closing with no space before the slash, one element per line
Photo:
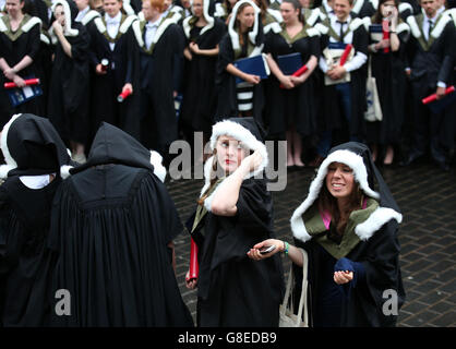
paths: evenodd
<path fill-rule="evenodd" d="M 322 163 L 316 173 L 315 179 L 310 184 L 309 194 L 307 198 L 298 206 L 293 212 L 290 225 L 295 238 L 305 242 L 312 237 L 305 229 L 304 221 L 302 220 L 302 215 L 312 206 L 315 200 L 319 197 L 322 186 L 325 184 L 325 178 L 327 174 L 327 168 L 332 163 L 341 163 L 349 166 L 353 170 L 355 180 L 358 182 L 360 189 L 367 196 L 370 196 L 375 200 L 380 200 L 380 194 L 369 186 L 368 182 L 368 171 L 360 155 L 355 154 L 348 149 L 338 149 L 334 153 L 331 153 L 327 158 Z M 397 222 L 401 222 L 403 216 L 393 208 L 388 207 L 377 207 L 371 216 L 359 224 L 355 228 L 356 234 L 361 240 L 370 239 L 375 231 L 377 231 L 384 224 L 395 219 Z"/>

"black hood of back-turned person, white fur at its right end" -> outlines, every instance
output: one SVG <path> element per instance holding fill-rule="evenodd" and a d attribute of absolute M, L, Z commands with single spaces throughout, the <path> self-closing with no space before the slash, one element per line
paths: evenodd
<path fill-rule="evenodd" d="M 107 164 L 149 169 L 161 182 L 166 178 L 166 168 L 161 165 L 161 156 L 157 152 L 147 151 L 127 132 L 103 122 L 92 143 L 87 163 L 71 169 L 70 173 L 74 174 L 89 167 Z"/>

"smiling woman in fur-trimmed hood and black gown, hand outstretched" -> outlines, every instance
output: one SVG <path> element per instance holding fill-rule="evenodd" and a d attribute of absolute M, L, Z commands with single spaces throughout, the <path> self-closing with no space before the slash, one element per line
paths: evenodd
<path fill-rule="evenodd" d="M 301 267 L 296 270 L 301 276 L 296 280 L 299 294 L 302 253 L 297 248 L 308 252 L 312 327 L 394 326 L 405 301 L 398 242 L 401 220 L 369 147 L 345 143 L 331 149 L 290 219 L 296 246 L 266 240 L 249 254 L 262 261 L 286 251 L 293 266 Z M 273 253 L 259 253 L 273 244 Z"/>

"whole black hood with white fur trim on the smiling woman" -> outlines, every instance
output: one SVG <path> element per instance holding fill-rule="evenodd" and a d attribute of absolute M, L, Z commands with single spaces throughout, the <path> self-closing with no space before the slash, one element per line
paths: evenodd
<path fill-rule="evenodd" d="M 375 231 L 392 219 L 399 224 L 403 221 L 403 215 L 379 169 L 373 164 L 369 148 L 364 144 L 349 142 L 331 149 L 329 155 L 320 166 L 315 179 L 310 184 L 307 198 L 292 214 L 290 224 L 295 238 L 303 242 L 312 239 L 305 229 L 302 215 L 319 197 L 322 186 L 325 185 L 327 168 L 332 163 L 341 163 L 349 166 L 353 170 L 355 180 L 363 193 L 375 198 L 380 204 L 367 220 L 355 228 L 355 233 L 361 240 L 369 240 Z M 379 191 L 374 191 L 374 180 Z"/>

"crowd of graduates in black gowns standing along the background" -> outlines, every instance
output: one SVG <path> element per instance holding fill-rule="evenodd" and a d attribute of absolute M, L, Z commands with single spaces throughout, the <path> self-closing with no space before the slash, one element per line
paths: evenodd
<path fill-rule="evenodd" d="M 385 165 L 400 157 L 409 165 L 429 153 L 448 169 L 456 111 L 448 103 L 454 95 L 443 96 L 455 80 L 452 5 L 7 0 L 1 83 L 22 87 L 39 77 L 36 95 L 43 94 L 24 91 L 25 101 L 14 105 L 14 89 L 1 88 L 1 125 L 16 112 L 47 117 L 73 159 L 84 163 L 107 121 L 167 161 L 173 141 L 191 141 L 195 131 L 207 141 L 216 121 L 252 116 L 268 139 L 288 141 L 289 167 L 317 166 L 332 145 L 350 140 L 368 144 Z M 261 53 L 267 79 L 237 68 L 237 60 Z M 300 76 L 281 65 L 292 53 L 307 67 Z M 377 99 L 368 76 L 376 81 Z M 432 94 L 445 101 L 424 106 Z"/>

